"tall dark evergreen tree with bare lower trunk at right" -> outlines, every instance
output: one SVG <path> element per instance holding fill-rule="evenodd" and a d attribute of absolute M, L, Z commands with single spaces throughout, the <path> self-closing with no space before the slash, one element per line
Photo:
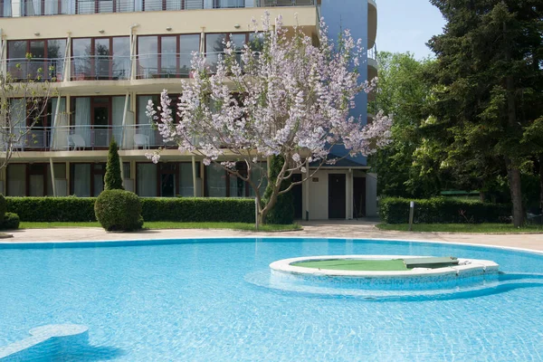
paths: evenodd
<path fill-rule="evenodd" d="M 437 56 L 434 114 L 450 139 L 445 162 L 505 168 L 513 224 L 524 222 L 521 173 L 537 150 L 522 142 L 543 114 L 541 0 L 431 0 L 447 24 Z M 476 168 L 477 168 L 476 167 Z"/>

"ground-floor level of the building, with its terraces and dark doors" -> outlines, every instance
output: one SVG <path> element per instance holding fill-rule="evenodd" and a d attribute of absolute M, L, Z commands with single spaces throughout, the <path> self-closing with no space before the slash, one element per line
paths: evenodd
<path fill-rule="evenodd" d="M 205 166 L 201 159 L 167 150 L 154 164 L 145 150 L 120 151 L 125 189 L 142 197 L 254 197 L 248 182 L 228 174 L 218 165 Z M 98 196 L 104 188 L 107 150 L 28 152 L 16 155 L 0 172 L 0 193 L 7 196 Z M 49 155 L 50 154 L 50 155 Z M 48 155 L 50 157 L 48 157 Z M 240 163 L 243 167 L 243 163 Z M 252 181 L 266 187 L 261 170 Z M 376 216 L 376 175 L 368 167 L 325 167 L 310 174 L 293 175 L 293 181 L 310 176 L 292 189 L 295 218 L 299 220 L 349 220 Z M 261 182 L 262 180 L 262 182 Z"/>

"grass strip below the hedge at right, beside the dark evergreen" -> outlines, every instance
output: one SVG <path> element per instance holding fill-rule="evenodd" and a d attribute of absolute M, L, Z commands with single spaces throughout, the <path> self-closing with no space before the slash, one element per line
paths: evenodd
<path fill-rule="evenodd" d="M 378 224 L 380 230 L 409 231 L 409 224 Z M 512 224 L 414 224 L 414 232 L 426 233 L 543 233 L 541 225 L 520 228 Z"/>

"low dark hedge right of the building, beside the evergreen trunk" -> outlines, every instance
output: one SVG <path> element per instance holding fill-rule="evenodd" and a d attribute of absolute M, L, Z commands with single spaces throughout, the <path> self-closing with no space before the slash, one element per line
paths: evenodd
<path fill-rule="evenodd" d="M 510 223 L 510 205 L 445 197 L 419 200 L 399 197 L 381 199 L 381 220 L 387 224 L 408 223 L 411 201 L 414 201 L 414 224 Z"/>

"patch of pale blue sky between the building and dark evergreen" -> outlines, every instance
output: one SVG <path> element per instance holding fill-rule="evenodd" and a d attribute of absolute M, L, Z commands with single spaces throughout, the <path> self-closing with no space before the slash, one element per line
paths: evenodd
<path fill-rule="evenodd" d="M 443 33 L 445 21 L 429 0 L 376 0 L 379 52 L 412 52 L 417 59 L 433 55 L 426 43 Z"/>

